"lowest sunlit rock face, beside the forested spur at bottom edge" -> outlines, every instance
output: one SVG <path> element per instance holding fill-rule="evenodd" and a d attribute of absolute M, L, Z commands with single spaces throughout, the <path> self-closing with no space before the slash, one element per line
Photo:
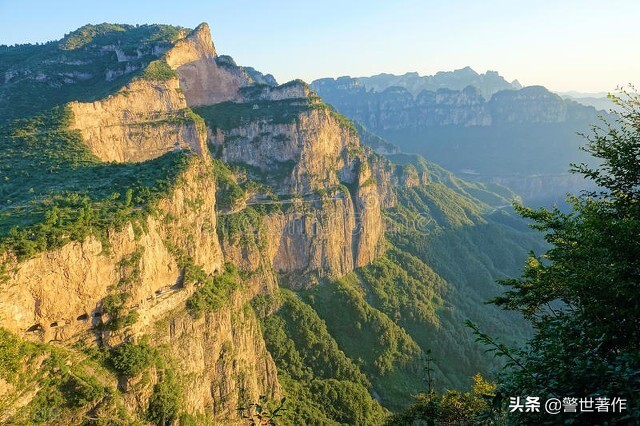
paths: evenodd
<path fill-rule="evenodd" d="M 276 366 L 246 300 L 194 320 L 182 311 L 157 329 L 159 344 L 170 348 L 181 372 L 185 409 L 218 419 L 234 419 L 237 408 L 261 395 L 280 395 Z"/>

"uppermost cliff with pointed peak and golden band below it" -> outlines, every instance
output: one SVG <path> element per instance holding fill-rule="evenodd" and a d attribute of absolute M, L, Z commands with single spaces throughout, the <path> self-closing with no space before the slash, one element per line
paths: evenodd
<path fill-rule="evenodd" d="M 241 99 L 239 89 L 250 78 L 240 67 L 218 64 L 207 24 L 168 49 L 157 62 L 165 63 L 175 76 L 169 70 L 160 80 L 143 74 L 106 99 L 70 103 L 72 128 L 98 158 L 138 162 L 177 149 L 208 157 L 206 137 L 189 107 Z"/>

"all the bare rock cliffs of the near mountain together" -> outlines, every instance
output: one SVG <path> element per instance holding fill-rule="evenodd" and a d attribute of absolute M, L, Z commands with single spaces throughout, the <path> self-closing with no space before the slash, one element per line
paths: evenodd
<path fill-rule="evenodd" d="M 107 47 L 123 63 L 148 53 Z M 395 171 L 361 146 L 358 132 L 306 84 L 276 86 L 272 78 L 255 70 L 249 75 L 230 58 L 218 57 L 206 24 L 151 49 L 155 61 L 176 76 L 143 74 L 106 98 L 76 99 L 68 104 L 70 127 L 102 161 L 142 162 L 180 150 L 188 156 L 186 172 L 153 214 L 109 229 L 106 241 L 89 237 L 21 262 L 4 254 L 8 277 L 0 288 L 0 327 L 23 339 L 60 344 L 95 345 L 97 336 L 106 347 L 150 336 L 184 383 L 185 409 L 229 423 L 238 420 L 239 404 L 280 394 L 249 302 L 274 292 L 278 280 L 307 287 L 372 262 L 382 250 L 381 207 L 394 202 L 389 185 L 376 178 Z M 292 104 L 286 119 L 274 118 Z M 268 114 L 226 127 L 219 125 L 224 116 L 213 114 L 205 117 L 205 127 L 191 110 L 203 105 L 248 105 L 250 111 L 255 105 Z M 253 231 L 245 227 L 234 236 L 220 230 L 220 166 L 209 147 L 262 185 L 244 210 L 229 213 L 232 218 L 255 214 L 251 204 L 267 197 L 289 200 L 287 207 L 262 214 Z M 241 288 L 224 306 L 195 318 L 185 303 L 203 283 L 192 282 L 185 265 L 211 277 L 222 273 L 225 262 L 242 271 Z M 123 282 L 129 283 L 126 291 Z M 125 312 L 136 313 L 122 329 L 108 327 L 115 314 L 106 301 L 113 296 L 122 298 Z M 130 412 L 146 409 L 162 375 L 118 384 Z"/>

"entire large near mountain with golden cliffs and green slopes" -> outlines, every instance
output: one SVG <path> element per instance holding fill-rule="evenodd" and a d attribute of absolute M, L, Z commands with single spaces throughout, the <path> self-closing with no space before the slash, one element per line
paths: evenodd
<path fill-rule="evenodd" d="M 354 125 L 209 27 L 88 25 L 0 64 L 0 422 L 381 424 L 499 366 L 467 318 L 544 242 L 515 194 Z M 365 145 L 386 147 L 383 156 Z"/>

